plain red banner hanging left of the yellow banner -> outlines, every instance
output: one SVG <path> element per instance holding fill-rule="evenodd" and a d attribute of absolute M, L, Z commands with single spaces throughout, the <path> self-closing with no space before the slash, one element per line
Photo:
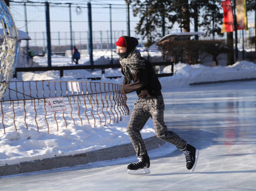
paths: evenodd
<path fill-rule="evenodd" d="M 232 32 L 234 28 L 233 12 L 230 0 L 222 1 L 222 8 L 224 13 L 223 25 L 221 32 Z"/>

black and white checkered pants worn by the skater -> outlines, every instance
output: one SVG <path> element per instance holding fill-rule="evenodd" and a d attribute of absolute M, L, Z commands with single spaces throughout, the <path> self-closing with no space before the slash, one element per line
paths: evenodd
<path fill-rule="evenodd" d="M 187 143 L 185 140 L 181 139 L 174 132 L 167 131 L 167 127 L 164 124 L 164 99 L 162 95 L 139 98 L 134 105 L 127 125 L 127 132 L 137 156 L 147 154 L 140 130 L 150 117 L 153 119 L 155 134 L 158 138 L 170 142 L 178 149 L 184 149 L 186 147 Z"/>

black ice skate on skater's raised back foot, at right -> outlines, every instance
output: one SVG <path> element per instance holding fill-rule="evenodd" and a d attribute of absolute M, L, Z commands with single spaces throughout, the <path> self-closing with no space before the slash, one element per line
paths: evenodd
<path fill-rule="evenodd" d="M 195 147 L 193 147 L 189 144 L 187 144 L 187 147 L 181 151 L 186 156 L 187 169 L 189 169 L 193 172 L 196 167 L 196 162 L 197 162 L 199 151 Z"/>

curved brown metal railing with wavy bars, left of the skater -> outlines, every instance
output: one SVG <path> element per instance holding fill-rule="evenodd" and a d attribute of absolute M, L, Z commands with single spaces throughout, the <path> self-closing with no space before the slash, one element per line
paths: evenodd
<path fill-rule="evenodd" d="M 47 133 L 59 124 L 106 125 L 129 115 L 127 97 L 121 94 L 121 85 L 104 82 L 74 81 L 17 81 L 11 82 L 1 104 L 3 133 L 6 129 L 25 126 L 47 127 Z M 62 96 L 67 110 L 49 112 L 46 98 Z M 9 120 L 5 119 L 8 118 Z M 1 130 L 0 130 L 1 131 Z"/>

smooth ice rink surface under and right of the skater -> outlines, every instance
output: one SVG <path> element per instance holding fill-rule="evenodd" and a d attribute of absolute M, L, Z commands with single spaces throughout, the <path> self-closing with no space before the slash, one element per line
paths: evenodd
<path fill-rule="evenodd" d="M 1 191 L 256 190 L 256 81 L 164 89 L 167 127 L 199 149 L 195 171 L 171 144 L 149 151 L 148 175 L 129 175 L 136 156 L 0 178 Z M 137 99 L 128 95 L 128 105 Z M 150 119 L 151 120 L 151 119 Z"/>

